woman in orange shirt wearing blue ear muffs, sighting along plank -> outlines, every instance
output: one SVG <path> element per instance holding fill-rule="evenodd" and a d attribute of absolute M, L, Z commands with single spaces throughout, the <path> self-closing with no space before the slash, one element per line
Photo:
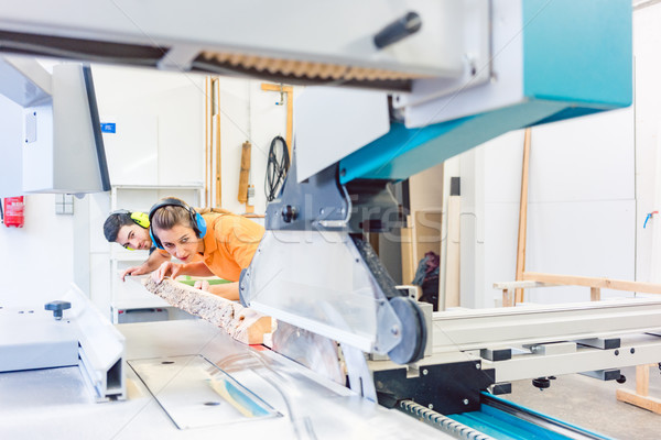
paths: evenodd
<path fill-rule="evenodd" d="M 182 264 L 165 262 L 152 273 L 161 283 L 170 275 L 218 276 L 232 283 L 195 287 L 227 299 L 239 299 L 239 276 L 252 261 L 264 233 L 260 224 L 228 211 L 196 212 L 174 197 L 162 199 L 149 212 L 150 233 L 159 249 L 164 249 Z M 202 261 L 193 261 L 196 255 Z"/>

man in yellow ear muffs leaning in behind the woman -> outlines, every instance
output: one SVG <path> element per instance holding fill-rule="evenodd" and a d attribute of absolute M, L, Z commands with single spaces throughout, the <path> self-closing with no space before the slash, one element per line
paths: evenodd
<path fill-rule="evenodd" d="M 156 250 L 149 234 L 149 216 L 144 212 L 131 212 L 126 209 L 110 212 L 104 223 L 104 234 L 110 243 L 115 242 L 128 250 L 150 250 L 150 255 L 140 266 L 127 268 L 121 274 L 126 280 L 127 275 L 143 275 L 155 271 L 166 261 L 170 254 Z"/>

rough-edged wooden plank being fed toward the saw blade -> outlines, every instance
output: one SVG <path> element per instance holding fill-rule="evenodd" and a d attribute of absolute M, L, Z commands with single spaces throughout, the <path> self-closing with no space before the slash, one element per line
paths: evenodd
<path fill-rule="evenodd" d="M 218 326 L 239 342 L 263 343 L 264 333 L 271 332 L 270 317 L 238 302 L 172 279 L 163 279 L 156 284 L 151 277 L 147 277 L 142 284 L 167 304 Z"/>

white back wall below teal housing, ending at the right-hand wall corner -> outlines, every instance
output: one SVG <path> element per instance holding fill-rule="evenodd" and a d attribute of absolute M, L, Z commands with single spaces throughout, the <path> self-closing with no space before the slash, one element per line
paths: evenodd
<path fill-rule="evenodd" d="M 472 223 L 462 219 L 462 298 L 477 307 L 501 298 L 495 282 L 516 278 L 522 152 L 517 131 L 459 156 L 462 177 L 484 167 L 481 178 L 462 180 L 462 212 L 477 213 Z M 527 272 L 635 279 L 633 161 L 632 108 L 532 129 Z M 467 194 L 469 183 L 477 196 Z M 589 299 L 578 287 L 528 292 L 535 302 Z"/>

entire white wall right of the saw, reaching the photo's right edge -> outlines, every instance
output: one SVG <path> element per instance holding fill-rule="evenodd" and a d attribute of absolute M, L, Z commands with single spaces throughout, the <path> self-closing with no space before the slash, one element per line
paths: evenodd
<path fill-rule="evenodd" d="M 661 211 L 661 4 L 650 4 L 633 12 L 633 106 L 533 129 L 528 271 L 661 282 L 661 216 L 643 229 L 647 215 Z M 466 172 L 485 163 L 484 227 L 462 223 L 462 272 L 483 286 L 466 295 L 481 306 L 500 296 L 494 282 L 516 275 L 522 145 L 522 132 L 509 133 L 454 160 L 463 199 Z M 585 290 L 537 289 L 530 298 L 585 299 Z"/>

